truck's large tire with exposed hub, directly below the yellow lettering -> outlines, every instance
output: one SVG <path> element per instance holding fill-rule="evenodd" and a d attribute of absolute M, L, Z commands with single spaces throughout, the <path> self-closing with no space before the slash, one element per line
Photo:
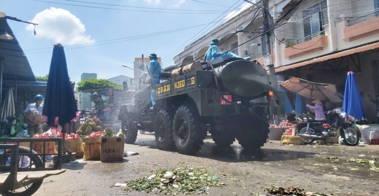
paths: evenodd
<path fill-rule="evenodd" d="M 188 104 L 178 108 L 174 116 L 173 135 L 179 153 L 192 155 L 201 149 L 206 131 L 201 126 L 196 107 Z"/>

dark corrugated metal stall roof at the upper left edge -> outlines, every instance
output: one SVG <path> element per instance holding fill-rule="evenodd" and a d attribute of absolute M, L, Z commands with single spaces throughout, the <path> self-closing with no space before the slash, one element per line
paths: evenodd
<path fill-rule="evenodd" d="M 6 32 L 13 39 L 0 39 L 0 59 L 3 65 L 4 79 L 36 81 L 32 68 L 10 29 L 5 17 L 0 18 L 0 33 Z"/>

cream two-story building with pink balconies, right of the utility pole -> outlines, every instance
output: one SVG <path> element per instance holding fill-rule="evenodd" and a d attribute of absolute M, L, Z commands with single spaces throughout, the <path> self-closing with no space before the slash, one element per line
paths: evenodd
<path fill-rule="evenodd" d="M 336 84 L 343 94 L 346 73 L 354 71 L 368 120 L 376 122 L 379 0 L 298 2 L 279 0 L 273 5 L 274 18 L 291 10 L 286 16 L 290 22 L 274 31 L 276 74 Z"/>

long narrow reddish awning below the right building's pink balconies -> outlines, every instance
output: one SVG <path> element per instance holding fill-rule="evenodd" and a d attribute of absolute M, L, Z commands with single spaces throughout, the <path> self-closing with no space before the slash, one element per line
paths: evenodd
<path fill-rule="evenodd" d="M 281 66 L 281 67 L 275 68 L 275 72 L 278 73 L 278 72 L 282 72 L 282 71 L 293 69 L 293 68 L 298 68 L 298 67 L 302 67 L 302 66 L 306 66 L 306 65 L 320 63 L 320 62 L 324 62 L 324 61 L 328 61 L 328 60 L 332 60 L 332 59 L 338 59 L 338 58 L 345 57 L 348 55 L 374 50 L 376 48 L 379 48 L 379 42 L 360 46 L 360 47 L 353 48 L 353 49 L 344 50 L 344 51 L 334 53 L 331 55 L 326 55 L 323 57 L 314 58 L 314 59 L 304 61 L 301 63 L 297 63 L 297 64 Z"/>

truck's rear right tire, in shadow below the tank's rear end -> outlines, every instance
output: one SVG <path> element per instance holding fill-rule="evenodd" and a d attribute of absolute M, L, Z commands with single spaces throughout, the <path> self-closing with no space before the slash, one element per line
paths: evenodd
<path fill-rule="evenodd" d="M 241 129 L 236 138 L 242 147 L 255 150 L 265 145 L 269 132 L 267 121 L 258 119 L 257 117 L 248 117 L 240 123 Z"/>

